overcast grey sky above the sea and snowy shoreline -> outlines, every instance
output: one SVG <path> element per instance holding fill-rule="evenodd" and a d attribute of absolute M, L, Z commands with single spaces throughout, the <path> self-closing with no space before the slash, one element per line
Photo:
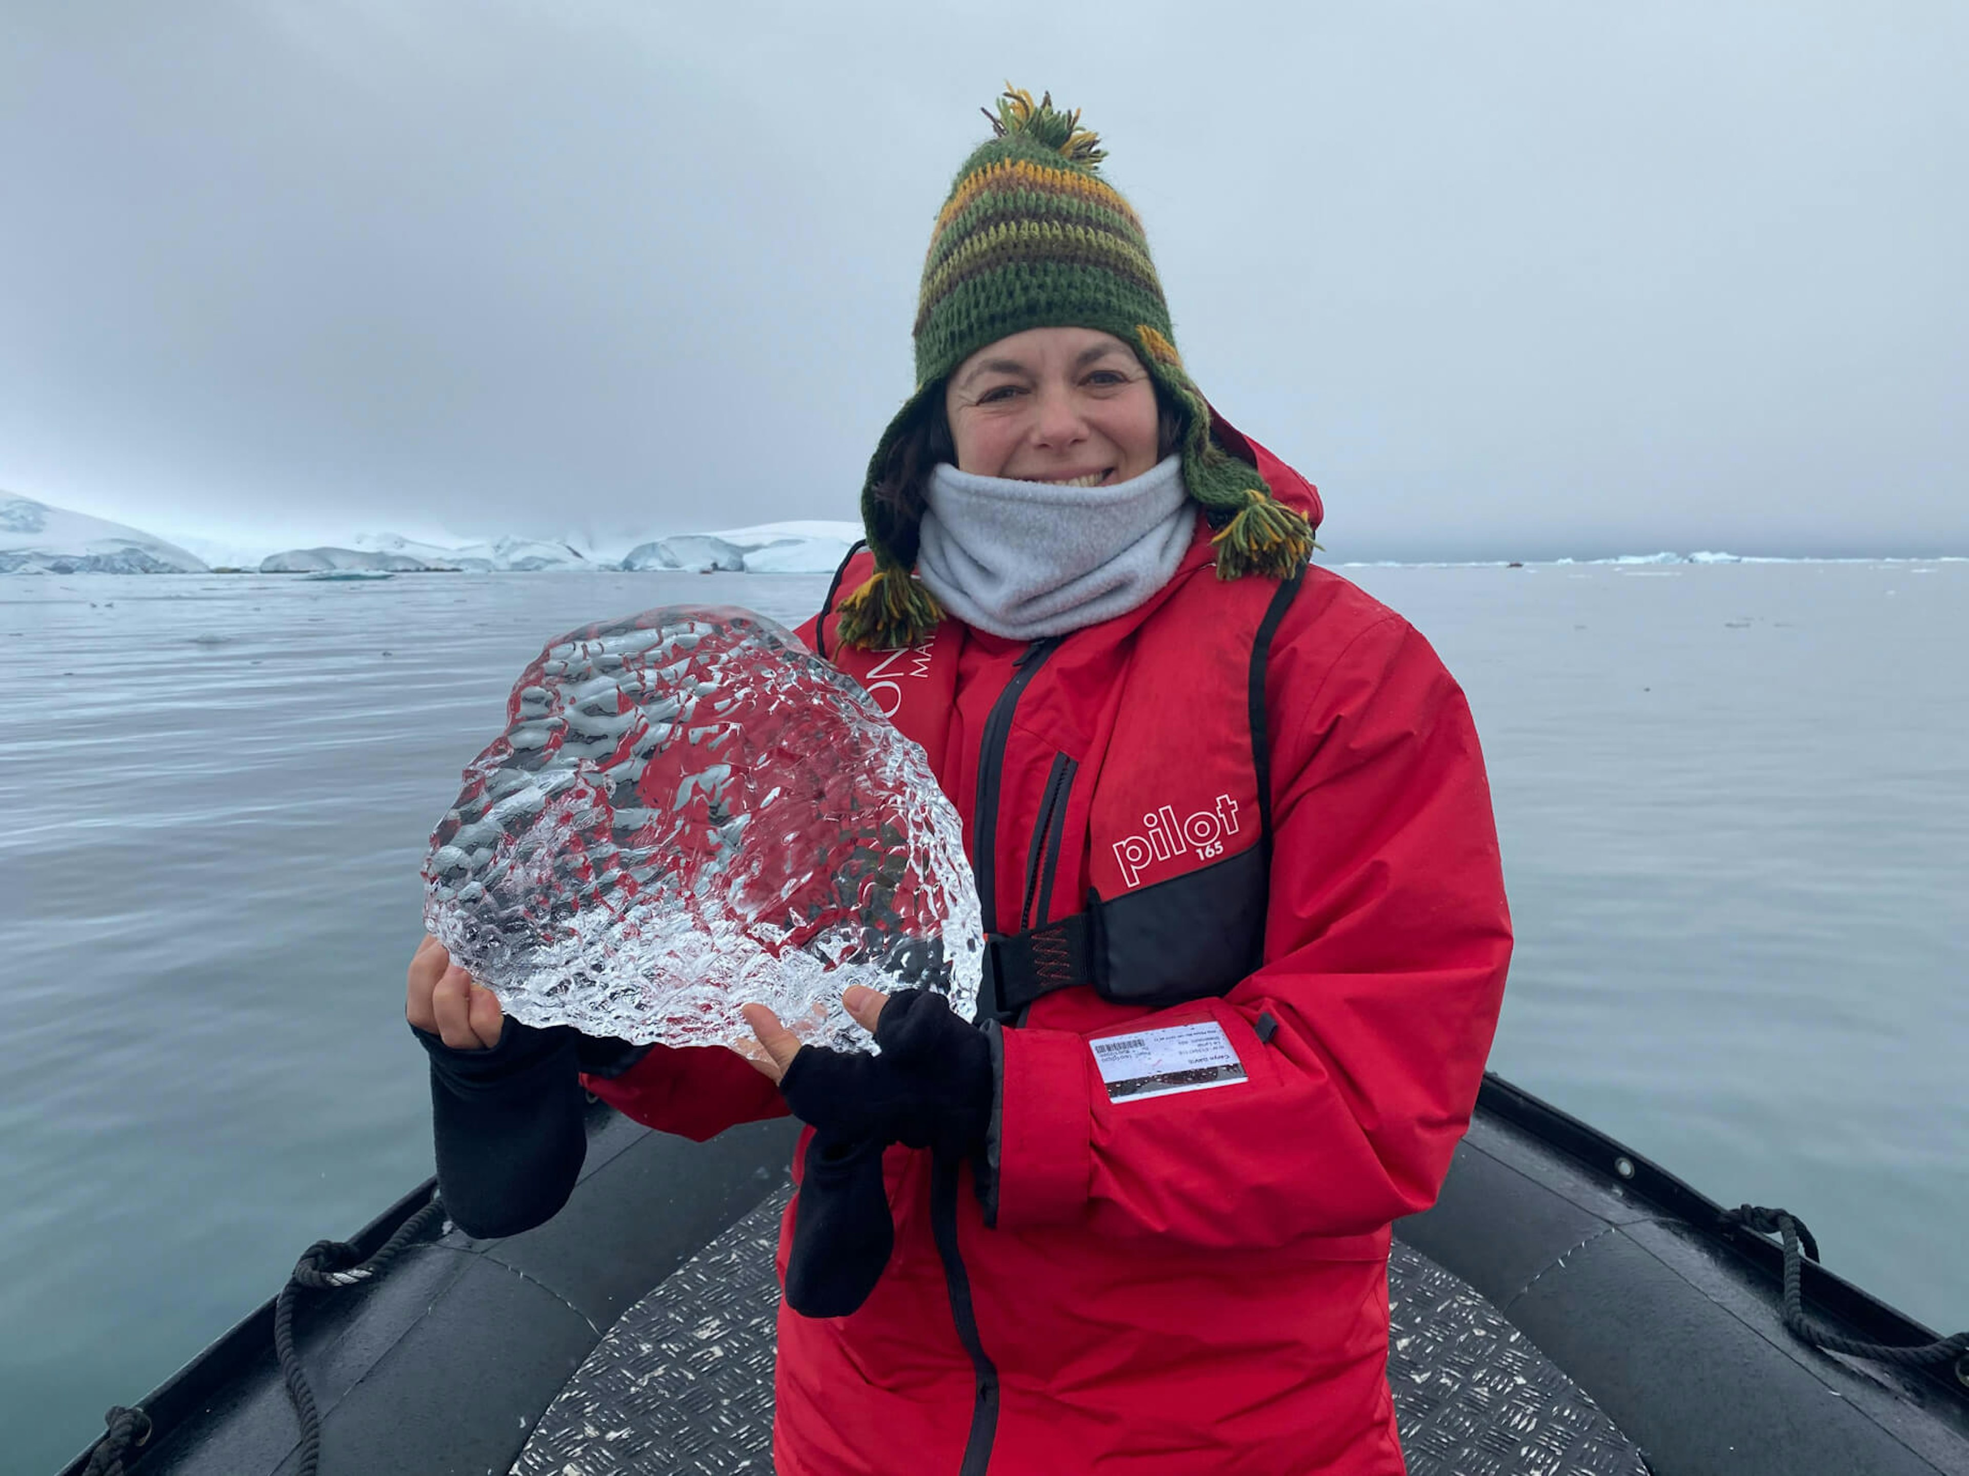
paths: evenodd
<path fill-rule="evenodd" d="M 1969 553 L 1961 0 L 0 0 L 0 488 L 853 518 L 1008 77 L 1333 559 Z"/>

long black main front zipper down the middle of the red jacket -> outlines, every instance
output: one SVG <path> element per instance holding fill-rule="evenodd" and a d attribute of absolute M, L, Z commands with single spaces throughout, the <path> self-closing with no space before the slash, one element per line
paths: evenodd
<path fill-rule="evenodd" d="M 1032 673 L 1059 646 L 1059 638 L 1032 642 L 1012 663 L 1012 679 L 1006 681 L 998 701 L 990 705 L 984 718 L 984 744 L 979 754 L 979 795 L 971 815 L 971 834 L 975 838 L 977 860 L 971 870 L 977 874 L 979 907 L 984 913 L 984 933 L 998 931 L 998 779 L 1004 771 L 1004 746 L 1012 736 L 1012 710 L 1018 695 L 1026 691 Z M 929 1165 L 929 1230 L 937 1242 L 937 1260 L 943 1261 L 943 1283 L 951 1299 L 951 1321 L 957 1324 L 957 1340 L 971 1354 L 971 1368 L 977 1374 L 977 1397 L 971 1405 L 971 1435 L 965 1441 L 965 1458 L 957 1468 L 959 1476 L 984 1476 L 990 1466 L 992 1441 L 998 1435 L 998 1366 L 984 1352 L 979 1338 L 977 1315 L 971 1307 L 971 1275 L 965 1271 L 963 1250 L 957 1246 L 957 1159 L 935 1157 Z"/>

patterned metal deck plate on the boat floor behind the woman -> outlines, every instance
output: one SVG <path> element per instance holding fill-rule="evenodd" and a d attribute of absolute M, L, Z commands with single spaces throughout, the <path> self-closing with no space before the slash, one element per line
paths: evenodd
<path fill-rule="evenodd" d="M 622 1315 L 512 1476 L 772 1470 L 772 1256 L 786 1193 Z M 1388 1291 L 1388 1385 L 1410 1476 L 1646 1476 L 1613 1421 L 1469 1285 L 1396 1242 Z"/>

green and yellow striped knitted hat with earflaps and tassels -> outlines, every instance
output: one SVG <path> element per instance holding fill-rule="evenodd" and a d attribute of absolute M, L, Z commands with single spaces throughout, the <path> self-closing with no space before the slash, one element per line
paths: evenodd
<path fill-rule="evenodd" d="M 951 370 L 986 344 L 1026 329 L 1099 329 L 1142 360 L 1164 403 L 1181 417 L 1183 486 L 1217 529 L 1217 577 L 1290 579 L 1313 549 L 1313 529 L 1272 498 L 1254 466 L 1211 437 L 1203 394 L 1183 370 L 1170 305 L 1148 240 L 1120 191 L 1101 177 L 1101 140 L 1008 87 L 990 118 L 994 138 L 957 171 L 923 258 L 916 311 L 916 394 L 868 461 L 862 523 L 874 577 L 841 602 L 841 640 L 914 646 L 943 618 L 912 579 L 918 529 L 874 498 L 890 449 L 916 423 Z"/>

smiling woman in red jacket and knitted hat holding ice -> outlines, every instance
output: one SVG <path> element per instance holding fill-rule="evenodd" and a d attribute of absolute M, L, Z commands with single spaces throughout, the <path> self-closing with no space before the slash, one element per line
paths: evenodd
<path fill-rule="evenodd" d="M 1101 157 L 1049 98 L 998 104 L 868 547 L 801 628 L 963 815 L 977 1019 L 898 988 L 845 1002 L 878 1055 L 764 1008 L 750 1061 L 612 1051 L 412 970 L 469 1230 L 559 1210 L 577 1073 L 691 1138 L 805 1124 L 790 1476 L 1402 1470 L 1390 1222 L 1437 1195 L 1510 956 L 1483 760 L 1429 646 L 1307 567 L 1317 494 L 1191 382 Z"/>

